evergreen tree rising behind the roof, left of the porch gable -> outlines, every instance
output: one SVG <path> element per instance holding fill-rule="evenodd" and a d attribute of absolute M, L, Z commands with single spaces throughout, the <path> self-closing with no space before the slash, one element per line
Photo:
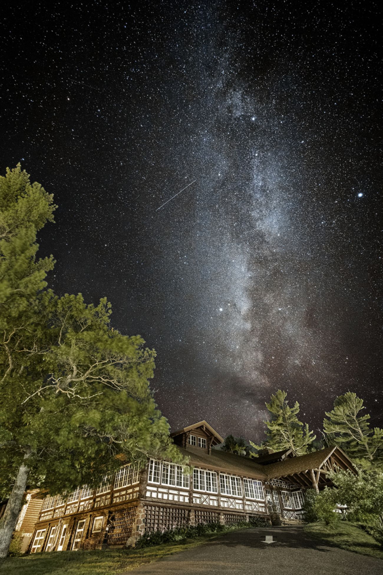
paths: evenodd
<path fill-rule="evenodd" d="M 308 429 L 307 423 L 298 420 L 299 403 L 296 401 L 294 407 L 289 407 L 286 397 L 287 393 L 278 389 L 266 403 L 271 417 L 264 422 L 267 425 L 267 439 L 262 447 L 272 451 L 292 448 L 297 455 L 303 455 L 307 453 L 315 435 Z M 260 449 L 260 446 L 252 445 Z"/>

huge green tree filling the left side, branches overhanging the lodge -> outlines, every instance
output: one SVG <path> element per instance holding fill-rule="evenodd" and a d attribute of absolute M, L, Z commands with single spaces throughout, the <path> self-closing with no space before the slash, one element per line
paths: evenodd
<path fill-rule="evenodd" d="M 36 234 L 53 198 L 20 165 L 0 178 L 0 558 L 26 486 L 51 494 L 96 485 L 121 462 L 179 461 L 149 389 L 153 350 L 110 328 L 110 304 L 46 289 L 53 259 Z"/>

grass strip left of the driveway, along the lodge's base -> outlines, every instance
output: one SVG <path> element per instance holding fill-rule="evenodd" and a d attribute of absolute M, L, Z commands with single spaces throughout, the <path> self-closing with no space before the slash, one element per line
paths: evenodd
<path fill-rule="evenodd" d="M 143 563 L 157 561 L 173 553 L 191 549 L 226 535 L 229 529 L 214 534 L 179 542 L 163 543 L 144 549 L 119 549 L 115 551 L 52 551 L 24 557 L 0 559 L 0 574 L 6 575 L 118 575 Z"/>

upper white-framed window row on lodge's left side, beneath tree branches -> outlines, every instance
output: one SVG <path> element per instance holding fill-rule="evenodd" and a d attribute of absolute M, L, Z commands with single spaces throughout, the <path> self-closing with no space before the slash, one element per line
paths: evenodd
<path fill-rule="evenodd" d="M 106 493 L 110 490 L 111 477 L 112 476 L 109 474 L 102 478 L 102 481 L 96 488 L 96 495 Z M 134 485 L 135 483 L 138 483 L 138 481 L 140 481 L 140 471 L 138 466 L 128 463 L 117 471 L 113 485 L 114 489 L 121 489 L 123 487 L 128 487 L 129 485 Z M 47 511 L 47 509 L 59 507 L 59 505 L 63 505 L 65 501 L 67 501 L 67 503 L 74 503 L 79 499 L 87 499 L 87 497 L 92 496 L 93 492 L 94 488 L 91 488 L 88 485 L 83 485 L 82 487 L 78 487 L 72 491 L 72 493 L 69 493 L 67 497 L 65 493 L 45 497 L 41 511 Z"/>

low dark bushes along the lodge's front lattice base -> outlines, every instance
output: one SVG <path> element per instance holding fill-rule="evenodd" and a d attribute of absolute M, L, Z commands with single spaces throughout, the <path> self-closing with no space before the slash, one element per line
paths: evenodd
<path fill-rule="evenodd" d="M 269 523 L 263 517 L 250 517 L 249 522 L 239 521 L 234 525 L 223 525 L 222 523 L 198 523 L 185 527 L 175 527 L 173 529 L 152 531 L 145 533 L 136 543 L 136 549 L 151 547 L 169 543 L 172 541 L 182 541 L 187 538 L 203 537 L 214 533 L 223 533 L 232 528 L 241 529 L 243 527 L 266 527 Z"/>

